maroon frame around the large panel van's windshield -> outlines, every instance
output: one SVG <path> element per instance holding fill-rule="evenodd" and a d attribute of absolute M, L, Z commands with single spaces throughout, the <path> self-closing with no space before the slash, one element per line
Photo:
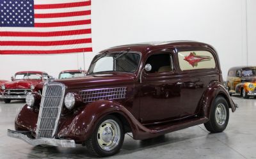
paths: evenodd
<path fill-rule="evenodd" d="M 90 67 L 88 68 L 88 72 L 86 73 L 86 75 L 94 75 L 94 74 L 99 74 L 99 73 L 109 73 L 109 72 L 120 72 L 120 71 L 104 71 L 104 72 L 92 72 L 90 73 L 90 70 L 92 68 L 92 64 L 95 64 L 97 63 L 97 61 L 99 61 L 99 59 L 101 59 L 102 57 L 106 57 L 110 54 L 124 54 L 124 50 L 120 50 L 120 51 L 113 51 L 113 52 L 100 52 L 99 54 L 97 54 L 96 56 L 93 57 L 93 60 L 90 64 Z M 127 54 L 138 54 L 140 56 L 140 60 L 139 60 L 139 63 L 138 63 L 138 66 L 136 68 L 136 70 L 134 72 L 121 72 L 121 73 L 137 73 L 138 70 L 140 69 L 140 65 L 141 65 L 141 60 L 142 60 L 142 54 L 141 52 L 138 52 L 138 51 L 129 51 L 127 52 Z M 97 58 L 97 56 L 101 55 L 102 57 L 100 58 Z M 118 56 L 117 56 L 118 57 Z M 95 61 L 96 60 L 96 61 Z"/>

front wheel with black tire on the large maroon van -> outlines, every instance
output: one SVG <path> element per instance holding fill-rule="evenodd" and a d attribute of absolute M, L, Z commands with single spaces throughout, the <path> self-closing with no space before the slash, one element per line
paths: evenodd
<path fill-rule="evenodd" d="M 116 140 L 118 140 L 117 141 L 118 143 L 114 144 L 113 149 L 109 149 L 108 151 L 102 148 L 102 144 L 99 144 L 101 142 L 104 142 L 103 134 L 101 137 L 99 132 L 101 131 L 100 128 L 104 128 L 105 123 L 108 123 L 108 125 L 112 126 L 111 128 L 109 127 L 109 129 L 111 129 L 110 132 L 112 132 L 111 133 L 112 137 L 113 137 L 113 132 L 115 132 L 114 129 L 117 130 L 117 132 L 115 132 L 115 135 L 118 135 L 118 134 L 120 135 L 119 137 L 117 137 L 118 139 L 116 138 Z M 108 130 L 108 126 L 106 126 L 105 129 Z M 118 131 L 119 131 L 119 133 L 118 133 Z M 109 136 L 108 132 L 104 132 L 104 133 L 107 134 L 105 138 L 108 140 L 108 138 L 111 135 Z M 103 140 L 102 140 L 102 138 L 103 138 Z M 113 138 L 115 140 L 115 137 L 113 137 Z M 92 153 L 92 155 L 102 157 L 102 156 L 111 156 L 111 155 L 115 155 L 116 153 L 118 153 L 118 151 L 120 150 L 120 148 L 123 145 L 123 142 L 124 142 L 124 130 L 123 130 L 121 121 L 115 116 L 106 116 L 99 121 L 94 132 L 92 133 L 92 136 L 88 140 L 86 140 L 85 144 L 86 144 L 86 147 L 88 148 L 88 150 L 90 151 L 90 153 Z"/>

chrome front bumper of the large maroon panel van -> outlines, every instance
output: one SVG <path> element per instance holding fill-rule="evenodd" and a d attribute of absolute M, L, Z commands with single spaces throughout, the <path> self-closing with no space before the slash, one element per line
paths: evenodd
<path fill-rule="evenodd" d="M 61 146 L 65 148 L 76 148 L 76 142 L 74 140 L 65 140 L 65 139 L 49 139 L 49 138 L 31 138 L 31 132 L 20 132 L 7 130 L 7 135 L 9 137 L 17 138 L 20 140 L 24 140 L 28 144 L 33 146 L 36 145 L 48 145 L 48 146 Z"/>

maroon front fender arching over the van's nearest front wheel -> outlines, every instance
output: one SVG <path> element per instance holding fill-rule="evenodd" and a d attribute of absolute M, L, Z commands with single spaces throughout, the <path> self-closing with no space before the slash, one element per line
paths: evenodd
<path fill-rule="evenodd" d="M 154 130 L 148 130 L 141 125 L 139 121 L 132 116 L 129 110 L 119 103 L 99 100 L 88 103 L 83 109 L 67 117 L 61 117 L 58 130 L 58 137 L 64 139 L 73 139 L 77 143 L 84 142 L 95 130 L 100 119 L 108 114 L 118 113 L 125 117 L 131 126 L 134 139 L 146 139 L 148 134 L 156 133 Z"/>

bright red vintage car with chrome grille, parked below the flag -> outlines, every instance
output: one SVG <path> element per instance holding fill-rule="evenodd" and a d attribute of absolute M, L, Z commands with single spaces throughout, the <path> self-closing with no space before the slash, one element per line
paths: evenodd
<path fill-rule="evenodd" d="M 5 103 L 10 103 L 11 100 L 25 100 L 29 92 L 39 91 L 35 89 L 37 84 L 45 82 L 48 78 L 49 75 L 46 72 L 17 72 L 11 82 L 1 85 L 0 98 Z"/>

